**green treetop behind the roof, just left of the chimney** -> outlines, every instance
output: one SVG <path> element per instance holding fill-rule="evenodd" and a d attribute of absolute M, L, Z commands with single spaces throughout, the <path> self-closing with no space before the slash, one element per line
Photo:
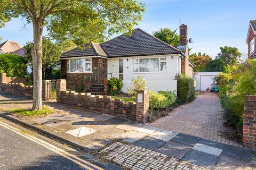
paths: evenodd
<path fill-rule="evenodd" d="M 160 28 L 157 31 L 153 32 L 153 35 L 164 41 L 167 44 L 170 44 L 171 46 L 178 46 L 179 45 L 179 35 L 176 33 L 177 29 L 172 31 L 170 28 Z"/>

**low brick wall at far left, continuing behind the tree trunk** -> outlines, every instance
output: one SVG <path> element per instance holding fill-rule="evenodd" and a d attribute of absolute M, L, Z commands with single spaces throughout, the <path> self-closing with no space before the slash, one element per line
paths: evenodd
<path fill-rule="evenodd" d="M 22 83 L 10 83 L 11 80 L 20 81 Z M 25 86 L 26 78 L 10 78 L 6 77 L 6 73 L 0 73 L 0 90 L 10 92 L 16 95 L 22 95 L 27 97 L 33 97 L 33 86 Z M 51 82 L 50 80 L 43 80 L 42 86 L 42 99 L 49 99 L 50 92 L 46 90 L 46 83 Z"/>

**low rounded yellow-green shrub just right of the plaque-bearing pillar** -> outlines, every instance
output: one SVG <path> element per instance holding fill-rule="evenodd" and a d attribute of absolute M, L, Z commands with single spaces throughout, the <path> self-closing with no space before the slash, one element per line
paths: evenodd
<path fill-rule="evenodd" d="M 154 91 L 148 91 L 149 93 L 149 108 L 159 109 L 167 108 L 175 102 L 175 95 L 169 91 L 159 91 L 158 94 Z"/>

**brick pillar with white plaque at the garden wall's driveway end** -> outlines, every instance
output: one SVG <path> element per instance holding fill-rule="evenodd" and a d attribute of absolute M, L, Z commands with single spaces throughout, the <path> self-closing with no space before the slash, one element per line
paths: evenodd
<path fill-rule="evenodd" d="M 149 96 L 147 91 L 138 91 L 136 102 L 136 121 L 146 122 L 146 116 L 149 113 Z"/>

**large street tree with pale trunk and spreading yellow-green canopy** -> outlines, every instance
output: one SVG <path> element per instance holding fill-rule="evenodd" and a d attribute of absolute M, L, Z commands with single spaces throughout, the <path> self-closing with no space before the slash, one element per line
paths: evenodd
<path fill-rule="evenodd" d="M 33 109 L 42 109 L 42 38 L 46 27 L 58 41 L 78 45 L 129 32 L 141 20 L 144 4 L 137 0 L 0 0 L 0 28 L 12 18 L 33 24 Z"/>

